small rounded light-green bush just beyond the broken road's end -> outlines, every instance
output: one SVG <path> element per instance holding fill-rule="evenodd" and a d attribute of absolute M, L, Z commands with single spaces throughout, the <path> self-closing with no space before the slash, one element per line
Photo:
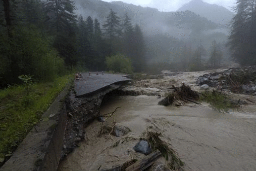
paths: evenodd
<path fill-rule="evenodd" d="M 115 72 L 132 73 L 132 62 L 122 54 L 106 57 L 107 68 Z"/>

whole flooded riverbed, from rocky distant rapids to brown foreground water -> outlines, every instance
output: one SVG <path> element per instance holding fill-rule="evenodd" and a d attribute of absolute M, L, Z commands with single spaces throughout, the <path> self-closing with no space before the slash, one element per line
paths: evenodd
<path fill-rule="evenodd" d="M 185 163 L 186 171 L 256 170 L 254 80 L 250 78 L 248 82 L 238 84 L 238 79 L 232 75 L 240 75 L 244 71 L 254 73 L 253 67 L 249 70 L 226 68 L 199 72 L 163 71 L 161 76 L 152 76 L 154 79 L 121 86 L 105 96 L 102 105 L 91 112 L 97 113 L 94 115 L 96 118 L 121 107 L 114 117 L 105 120 L 104 125 L 109 130 L 113 128 L 113 123 L 117 123 L 128 127 L 131 132 L 122 137 L 112 136 L 109 131 L 99 134 L 102 122 L 95 120 L 85 128 L 76 128 L 76 121 L 73 120 L 71 126 L 74 130 L 84 132 L 80 134 L 78 131 L 75 134 L 77 136 L 73 137 L 77 140 L 77 148 L 61 162 L 59 171 L 106 170 L 131 159 L 142 159 L 145 155 L 135 152 L 133 147 L 146 131 L 161 133 L 160 138 L 177 151 Z M 173 86 L 180 87 L 182 83 L 199 93 L 220 90 L 233 100 L 244 103 L 240 104 L 239 110 L 230 110 L 226 114 L 212 109 L 207 103 L 182 103 L 178 108 L 157 104 L 168 92 L 173 91 Z M 244 91 L 244 85 L 249 86 L 250 91 Z M 236 87 L 242 91 L 234 91 L 238 90 Z M 83 110 L 90 111 L 86 106 L 83 107 Z M 75 118 L 72 113 L 70 117 Z M 113 146 L 122 138 L 122 143 Z M 164 161 L 162 163 L 168 165 Z"/>

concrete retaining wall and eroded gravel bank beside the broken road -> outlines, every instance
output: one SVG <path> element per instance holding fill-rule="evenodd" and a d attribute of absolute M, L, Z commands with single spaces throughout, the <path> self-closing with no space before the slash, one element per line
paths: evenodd
<path fill-rule="evenodd" d="M 123 83 L 80 98 L 67 86 L 0 171 L 56 171 L 59 162 L 85 138 L 84 128 L 99 117 L 102 99 Z"/>

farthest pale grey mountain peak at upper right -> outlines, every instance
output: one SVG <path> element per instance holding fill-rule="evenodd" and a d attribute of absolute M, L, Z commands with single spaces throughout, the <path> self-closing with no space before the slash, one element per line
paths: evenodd
<path fill-rule="evenodd" d="M 186 10 L 195 12 L 196 14 L 199 14 L 200 16 L 205 17 L 214 23 L 223 25 L 228 24 L 235 15 L 233 12 L 229 11 L 223 6 L 209 4 L 203 0 L 191 0 L 188 3 L 185 3 L 177 11 Z"/>

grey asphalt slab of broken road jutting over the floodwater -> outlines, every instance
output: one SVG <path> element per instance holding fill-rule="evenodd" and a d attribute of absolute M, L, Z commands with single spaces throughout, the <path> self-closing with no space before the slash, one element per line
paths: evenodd
<path fill-rule="evenodd" d="M 92 72 L 89 76 L 89 73 L 86 72 L 82 73 L 82 76 L 82 78 L 75 80 L 75 92 L 77 97 L 88 95 L 114 83 L 132 80 L 128 78 L 127 75 L 109 73 L 99 73 L 97 75 L 96 72 Z"/>

